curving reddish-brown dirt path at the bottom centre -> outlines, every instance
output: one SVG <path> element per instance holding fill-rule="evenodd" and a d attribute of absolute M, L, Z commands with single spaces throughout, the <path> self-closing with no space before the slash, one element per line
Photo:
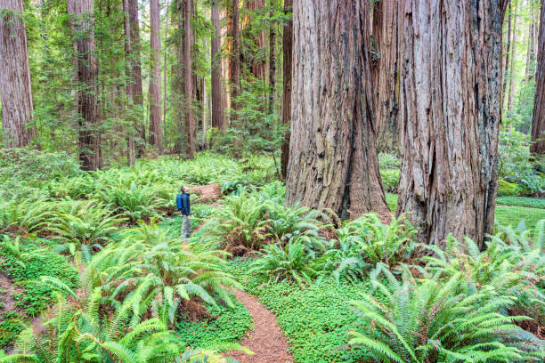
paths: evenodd
<path fill-rule="evenodd" d="M 249 331 L 240 342 L 240 345 L 254 354 L 229 351 L 225 356 L 237 359 L 240 363 L 292 363 L 293 356 L 288 351 L 288 339 L 281 331 L 273 313 L 258 303 L 255 297 L 243 291 L 235 291 L 234 294 L 240 303 L 246 306 L 254 320 L 254 330 Z"/>

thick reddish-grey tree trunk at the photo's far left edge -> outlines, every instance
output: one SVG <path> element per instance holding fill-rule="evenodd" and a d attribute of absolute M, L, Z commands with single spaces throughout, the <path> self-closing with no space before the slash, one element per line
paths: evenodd
<path fill-rule="evenodd" d="M 16 13 L 22 11 L 22 0 L 0 0 L 2 129 L 9 148 L 27 146 L 36 135 L 36 129 L 29 126 L 33 106 L 27 28 Z"/>

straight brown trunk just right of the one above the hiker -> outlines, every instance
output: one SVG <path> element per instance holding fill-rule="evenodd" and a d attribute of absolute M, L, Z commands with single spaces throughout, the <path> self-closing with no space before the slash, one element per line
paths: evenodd
<path fill-rule="evenodd" d="M 212 127 L 224 130 L 224 108 L 222 106 L 222 59 L 220 52 L 220 25 L 218 0 L 212 0 Z"/>

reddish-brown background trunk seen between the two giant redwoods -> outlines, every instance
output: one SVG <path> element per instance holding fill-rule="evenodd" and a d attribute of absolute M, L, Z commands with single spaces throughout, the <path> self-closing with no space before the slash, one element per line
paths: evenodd
<path fill-rule="evenodd" d="M 373 109 L 379 151 L 399 149 L 399 73 L 403 57 L 405 0 L 382 0 L 373 7 L 373 39 L 378 56 L 371 62 Z"/>

